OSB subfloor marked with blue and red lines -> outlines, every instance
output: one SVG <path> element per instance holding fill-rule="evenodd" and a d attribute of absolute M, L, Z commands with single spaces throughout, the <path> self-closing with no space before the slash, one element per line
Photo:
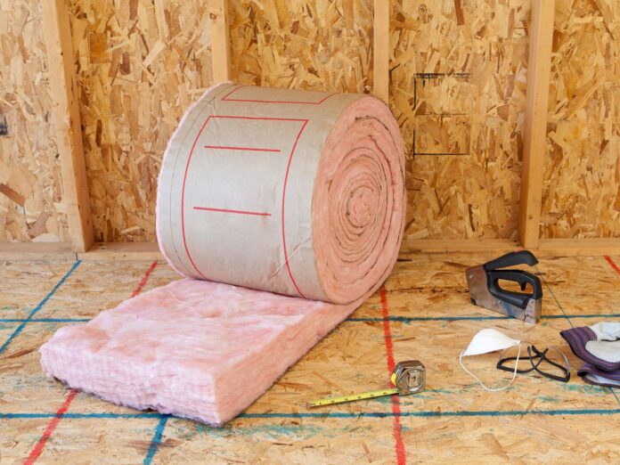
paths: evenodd
<path fill-rule="evenodd" d="M 469 304 L 464 269 L 492 257 L 399 262 L 358 309 L 265 396 L 225 428 L 137 412 L 46 379 L 37 348 L 136 290 L 177 279 L 164 263 L 5 262 L 0 266 L 0 462 L 342 463 L 404 460 L 620 461 L 620 394 L 584 384 L 559 331 L 620 317 L 620 257 L 542 259 L 542 322 L 532 326 Z M 142 283 L 142 284 L 141 284 Z M 143 289 L 140 286 L 143 285 Z M 387 320 L 384 320 L 387 315 Z M 563 384 L 519 376 L 487 393 L 458 355 L 483 328 L 559 345 L 573 367 Z M 388 339 L 391 334 L 391 339 Z M 308 411 L 322 396 L 387 387 L 387 355 L 420 359 L 426 392 Z M 493 383 L 496 355 L 468 360 Z M 243 373 L 239 373 L 243 376 Z M 248 379 L 248 382 L 252 382 Z M 69 396 L 69 397 L 68 397 Z M 63 415 L 57 412 L 66 411 Z"/>

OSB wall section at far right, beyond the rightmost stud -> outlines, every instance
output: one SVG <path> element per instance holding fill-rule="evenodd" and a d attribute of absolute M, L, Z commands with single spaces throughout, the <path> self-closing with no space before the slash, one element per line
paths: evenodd
<path fill-rule="evenodd" d="M 557 0 L 542 236 L 620 237 L 620 1 Z"/>

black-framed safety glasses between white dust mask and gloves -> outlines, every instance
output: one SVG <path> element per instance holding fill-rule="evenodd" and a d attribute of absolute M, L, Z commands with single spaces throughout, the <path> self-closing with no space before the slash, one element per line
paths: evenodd
<path fill-rule="evenodd" d="M 536 371 L 545 378 L 568 382 L 570 366 L 567 356 L 558 347 L 547 347 L 539 351 L 534 344 L 526 342 L 527 357 L 519 357 L 520 351 L 514 355 L 519 347 L 509 347 L 500 354 L 497 368 L 503 371 L 529 373 Z M 527 363 L 529 362 L 529 363 Z"/>

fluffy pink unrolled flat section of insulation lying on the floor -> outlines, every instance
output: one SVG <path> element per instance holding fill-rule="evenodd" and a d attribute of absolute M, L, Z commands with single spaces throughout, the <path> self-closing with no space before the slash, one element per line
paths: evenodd
<path fill-rule="evenodd" d="M 41 363 L 115 404 L 221 425 L 353 308 L 183 279 L 61 328 Z"/>

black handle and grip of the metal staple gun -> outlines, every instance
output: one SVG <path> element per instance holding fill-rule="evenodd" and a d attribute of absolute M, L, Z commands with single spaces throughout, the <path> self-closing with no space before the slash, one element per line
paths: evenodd
<path fill-rule="evenodd" d="M 486 282 L 489 292 L 495 298 L 499 298 L 510 305 L 518 306 L 525 310 L 530 298 L 542 298 L 542 285 L 538 276 L 522 270 L 498 270 L 506 266 L 514 265 L 536 265 L 538 260 L 529 250 L 520 250 L 518 252 L 510 252 L 502 257 L 485 263 Z M 526 290 L 526 285 L 532 286 L 532 294 L 515 292 L 513 290 L 504 290 L 500 287 L 498 281 L 515 281 L 518 282 L 521 290 Z"/>

